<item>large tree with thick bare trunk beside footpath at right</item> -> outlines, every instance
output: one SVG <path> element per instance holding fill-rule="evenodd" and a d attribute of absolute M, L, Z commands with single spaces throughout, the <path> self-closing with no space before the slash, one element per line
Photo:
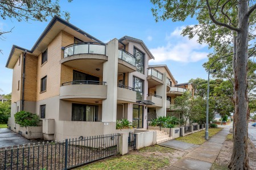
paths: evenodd
<path fill-rule="evenodd" d="M 254 1 L 232 0 L 151 0 L 155 5 L 152 14 L 156 21 L 159 19 L 184 21 L 188 16 L 195 17 L 197 27 L 187 27 L 185 32 L 199 35 L 199 42 L 207 42 L 210 47 L 217 49 L 222 45 L 231 44 L 236 53 L 233 56 L 234 71 L 234 147 L 231 169 L 249 169 L 247 151 L 249 118 L 247 92 L 247 62 L 248 44 L 251 37 L 255 37 L 255 9 Z M 250 31 L 249 31 L 250 30 Z"/>

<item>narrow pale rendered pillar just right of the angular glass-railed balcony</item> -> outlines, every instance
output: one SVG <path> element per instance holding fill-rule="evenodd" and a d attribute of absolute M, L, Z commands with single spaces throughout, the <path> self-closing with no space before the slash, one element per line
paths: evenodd
<path fill-rule="evenodd" d="M 167 82 L 166 82 L 166 73 L 163 73 L 163 84 L 156 86 L 156 95 L 162 96 L 163 107 L 156 108 L 156 116 L 166 116 L 166 91 L 167 91 Z"/>

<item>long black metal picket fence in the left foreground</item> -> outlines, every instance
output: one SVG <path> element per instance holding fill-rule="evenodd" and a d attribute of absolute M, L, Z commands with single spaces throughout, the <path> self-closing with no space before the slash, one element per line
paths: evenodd
<path fill-rule="evenodd" d="M 0 169 L 71 169 L 118 154 L 119 134 L 2 148 Z"/>

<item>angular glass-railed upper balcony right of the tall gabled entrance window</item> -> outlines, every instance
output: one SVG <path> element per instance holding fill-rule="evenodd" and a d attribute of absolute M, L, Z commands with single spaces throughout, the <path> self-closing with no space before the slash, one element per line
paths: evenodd
<path fill-rule="evenodd" d="M 148 68 L 147 69 L 147 80 L 148 80 L 148 87 L 155 87 L 157 85 L 163 84 L 163 73 L 160 71 L 154 69 L 154 68 Z"/>

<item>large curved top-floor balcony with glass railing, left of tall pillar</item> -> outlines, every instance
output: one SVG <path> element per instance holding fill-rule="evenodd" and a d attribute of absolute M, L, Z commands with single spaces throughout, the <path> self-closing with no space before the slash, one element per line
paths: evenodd
<path fill-rule="evenodd" d="M 100 69 L 102 72 L 103 63 L 108 61 L 106 45 L 104 43 L 79 42 L 65 46 L 62 49 L 64 56 L 60 63 L 79 70 L 95 71 L 95 69 Z M 99 73 L 96 72 L 96 74 Z"/>

